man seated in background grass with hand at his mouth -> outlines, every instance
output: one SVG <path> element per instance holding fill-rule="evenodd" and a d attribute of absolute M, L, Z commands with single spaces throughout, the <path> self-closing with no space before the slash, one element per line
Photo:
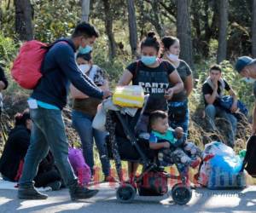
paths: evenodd
<path fill-rule="evenodd" d="M 234 147 L 236 141 L 236 117 L 232 114 L 237 110 L 237 98 L 230 85 L 221 78 L 221 67 L 214 65 L 210 68 L 209 77 L 202 85 L 202 93 L 206 107 L 207 129 L 217 130 L 214 119 L 215 117 L 224 118 L 230 123 L 230 131 L 228 132 L 228 145 Z M 224 90 L 228 91 L 233 97 L 233 104 L 230 112 L 220 107 L 219 100 L 224 95 Z"/>

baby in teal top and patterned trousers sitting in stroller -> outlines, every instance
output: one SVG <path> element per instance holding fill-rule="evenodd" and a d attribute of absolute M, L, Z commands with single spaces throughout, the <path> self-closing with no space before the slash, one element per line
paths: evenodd
<path fill-rule="evenodd" d="M 170 128 L 166 112 L 160 110 L 151 112 L 149 124 L 152 130 L 149 147 L 160 150 L 158 153 L 160 167 L 177 164 L 177 169 L 183 171 L 184 167 L 191 166 L 195 168 L 200 164 L 201 161 L 197 157 L 204 161 L 213 157 L 212 155 L 205 156 L 194 143 L 186 141 L 183 128 L 177 127 L 175 130 Z"/>

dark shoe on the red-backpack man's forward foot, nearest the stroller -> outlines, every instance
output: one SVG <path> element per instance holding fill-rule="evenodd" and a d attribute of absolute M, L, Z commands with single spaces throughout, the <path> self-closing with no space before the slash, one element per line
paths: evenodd
<path fill-rule="evenodd" d="M 70 197 L 72 200 L 77 199 L 90 199 L 91 197 L 95 196 L 99 190 L 89 189 L 87 187 L 81 187 L 77 185 L 69 190 Z"/>

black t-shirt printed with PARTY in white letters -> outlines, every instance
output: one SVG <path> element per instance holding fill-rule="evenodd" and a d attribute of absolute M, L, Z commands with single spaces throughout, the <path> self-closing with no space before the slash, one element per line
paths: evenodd
<path fill-rule="evenodd" d="M 141 85 L 145 94 L 149 94 L 146 112 L 166 110 L 165 90 L 170 87 L 169 75 L 174 66 L 166 60 L 160 60 L 160 66 L 151 68 L 141 60 L 132 62 L 126 69 L 133 75 L 132 84 Z M 150 108 L 149 108 L 150 107 Z"/>

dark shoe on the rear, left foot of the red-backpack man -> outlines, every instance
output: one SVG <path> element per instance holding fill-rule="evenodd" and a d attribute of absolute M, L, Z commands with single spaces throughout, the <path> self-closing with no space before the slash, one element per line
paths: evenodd
<path fill-rule="evenodd" d="M 19 187 L 18 189 L 19 199 L 47 199 L 48 195 L 44 193 L 39 193 L 38 190 L 31 187 Z"/>

